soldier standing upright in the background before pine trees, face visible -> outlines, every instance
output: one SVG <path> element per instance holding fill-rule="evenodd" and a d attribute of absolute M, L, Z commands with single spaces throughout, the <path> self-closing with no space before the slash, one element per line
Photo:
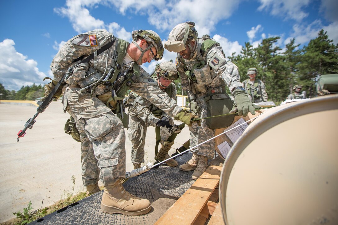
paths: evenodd
<path fill-rule="evenodd" d="M 243 87 L 252 102 L 266 102 L 268 100 L 268 95 L 265 91 L 265 85 L 263 81 L 256 79 L 257 73 L 258 71 L 256 68 L 249 68 L 246 73 L 249 79 L 243 81 Z"/>

